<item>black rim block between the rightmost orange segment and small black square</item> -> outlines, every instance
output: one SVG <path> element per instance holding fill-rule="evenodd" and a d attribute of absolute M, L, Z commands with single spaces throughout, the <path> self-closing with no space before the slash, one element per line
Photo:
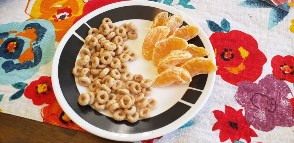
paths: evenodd
<path fill-rule="evenodd" d="M 189 87 L 203 90 L 206 85 L 207 77 L 208 74 L 199 74 L 192 77 L 192 82 L 189 84 Z"/>

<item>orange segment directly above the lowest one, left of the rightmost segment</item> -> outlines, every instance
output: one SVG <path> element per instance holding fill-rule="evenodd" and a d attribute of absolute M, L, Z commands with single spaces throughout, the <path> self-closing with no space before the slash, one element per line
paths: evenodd
<path fill-rule="evenodd" d="M 157 72 L 161 73 L 165 69 L 175 66 L 177 64 L 184 63 L 191 58 L 192 55 L 187 51 L 173 50 L 158 62 Z"/>

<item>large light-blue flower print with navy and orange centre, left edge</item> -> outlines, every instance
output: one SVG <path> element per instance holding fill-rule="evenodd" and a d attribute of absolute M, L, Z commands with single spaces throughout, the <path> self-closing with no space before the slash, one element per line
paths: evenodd
<path fill-rule="evenodd" d="M 39 67 L 52 60 L 54 26 L 48 20 L 34 19 L 0 25 L 0 84 L 13 84 L 31 78 Z M 16 76 L 19 75 L 19 76 Z"/>

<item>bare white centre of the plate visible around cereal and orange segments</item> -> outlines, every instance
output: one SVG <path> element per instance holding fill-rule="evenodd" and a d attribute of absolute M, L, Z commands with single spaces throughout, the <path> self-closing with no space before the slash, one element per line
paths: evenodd
<path fill-rule="evenodd" d="M 129 67 L 129 72 L 131 72 L 134 75 L 141 74 L 144 77 L 144 79 L 154 80 L 155 77 L 158 75 L 157 67 L 153 64 L 152 60 L 150 61 L 146 60 L 142 54 L 142 44 L 146 34 L 148 33 L 148 31 L 150 31 L 150 27 L 153 21 L 143 20 L 143 19 L 129 19 L 124 21 L 119 21 L 114 24 L 117 26 L 120 26 L 123 23 L 128 24 L 130 22 L 133 22 L 138 27 L 138 30 L 136 31 L 138 33 L 138 37 L 137 39 L 134 39 L 134 40 L 128 39 L 124 43 L 127 45 L 130 45 L 131 51 L 135 51 L 138 54 L 138 58 L 135 61 L 126 62 L 126 64 L 128 64 L 128 67 Z M 85 46 L 86 45 L 84 44 L 82 48 L 84 48 Z M 77 59 L 80 59 L 80 58 L 81 58 L 81 55 L 78 54 Z M 88 87 L 82 87 L 78 84 L 77 77 L 75 77 L 75 80 L 76 80 L 78 91 L 80 93 L 89 92 Z M 152 94 L 146 97 L 147 99 L 154 98 L 158 102 L 157 108 L 151 111 L 151 117 L 161 114 L 162 112 L 166 111 L 167 109 L 172 107 L 174 104 L 176 104 L 179 100 L 181 100 L 181 97 L 188 89 L 188 85 L 189 84 L 172 84 L 167 87 L 161 87 L 161 88 L 153 87 Z M 125 88 L 124 82 L 121 88 Z M 118 94 L 116 95 L 118 96 Z M 108 117 L 112 117 L 112 114 L 107 109 L 100 113 Z"/>

